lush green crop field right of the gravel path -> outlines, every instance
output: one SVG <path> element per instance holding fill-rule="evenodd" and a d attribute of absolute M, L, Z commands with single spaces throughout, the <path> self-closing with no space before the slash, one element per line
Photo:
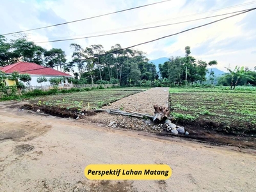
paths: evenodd
<path fill-rule="evenodd" d="M 171 115 L 178 122 L 218 132 L 256 136 L 255 90 L 170 88 Z"/>

